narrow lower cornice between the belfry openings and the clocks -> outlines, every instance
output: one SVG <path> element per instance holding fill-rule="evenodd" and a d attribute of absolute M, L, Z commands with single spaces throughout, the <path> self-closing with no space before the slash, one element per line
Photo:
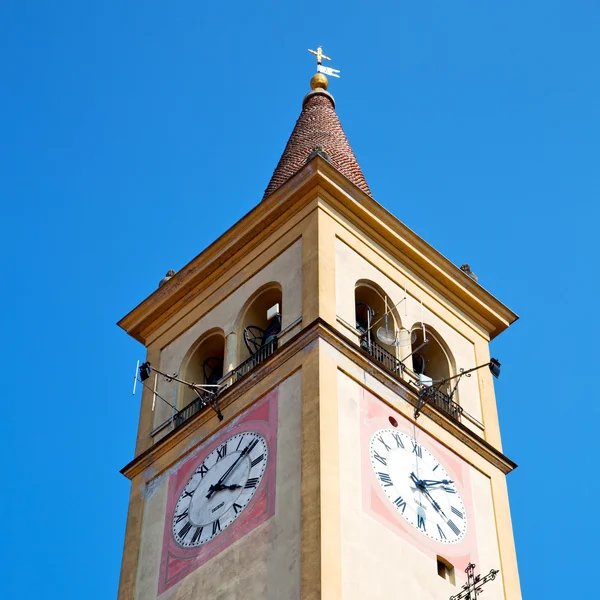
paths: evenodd
<path fill-rule="evenodd" d="M 258 365 L 246 377 L 238 381 L 219 397 L 221 411 L 226 415 L 226 420 L 218 424 L 214 413 L 210 410 L 196 414 L 188 419 L 181 427 L 170 432 L 165 437 L 156 442 L 153 446 L 142 452 L 128 463 L 121 473 L 128 479 L 133 479 L 145 469 L 153 465 L 161 457 L 165 456 L 170 450 L 178 446 L 186 438 L 201 429 L 208 421 L 215 420 L 217 425 L 205 439 L 213 435 L 218 428 L 227 425 L 231 419 L 234 419 L 239 412 L 245 410 L 247 405 L 240 406 L 238 410 L 229 411 L 228 408 L 233 408 L 233 404 L 240 397 L 250 392 L 259 382 L 270 376 L 277 369 L 283 366 L 288 360 L 295 356 L 298 352 L 302 352 L 307 346 L 314 343 L 316 340 L 322 339 L 329 343 L 332 347 L 342 353 L 344 356 L 354 362 L 359 368 L 363 369 L 377 381 L 385 385 L 388 389 L 406 400 L 409 404 L 416 407 L 418 398 L 415 392 L 408 387 L 402 380 L 398 380 L 374 363 L 354 342 L 342 335 L 337 329 L 329 325 L 322 319 L 316 319 L 310 325 L 302 329 L 285 345 L 279 348 L 269 359 Z M 300 367 L 294 367 L 290 372 L 285 373 L 285 377 L 289 377 Z M 345 371 L 344 371 L 345 372 Z M 346 373 L 350 377 L 349 373 Z M 279 383 L 279 379 L 271 382 L 271 388 Z M 364 382 L 358 382 L 364 385 Z M 266 390 L 267 392 L 268 390 Z M 265 393 L 266 393 L 265 392 Z M 454 421 L 435 406 L 425 404 L 421 408 L 423 416 L 430 418 L 440 427 L 447 430 L 457 439 L 461 440 L 465 445 L 483 457 L 490 464 L 494 465 L 504 474 L 514 470 L 517 465 L 494 446 L 486 442 L 482 437 L 470 430 L 468 427 Z M 203 441 L 203 440 L 202 440 Z M 199 443 L 202 443 L 199 441 Z M 181 458 L 178 456 L 178 459 Z M 166 467 L 168 468 L 168 467 Z M 153 470 L 153 477 L 159 473 Z"/>

